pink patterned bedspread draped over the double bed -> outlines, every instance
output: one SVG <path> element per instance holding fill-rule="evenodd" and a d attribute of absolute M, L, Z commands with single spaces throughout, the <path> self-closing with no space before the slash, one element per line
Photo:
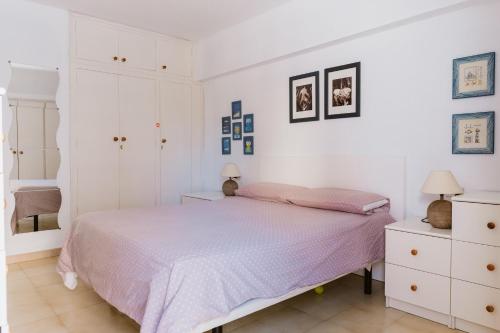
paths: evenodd
<path fill-rule="evenodd" d="M 242 197 L 80 216 L 58 270 L 76 272 L 142 333 L 186 333 L 384 256 L 388 207 L 357 215 Z"/>

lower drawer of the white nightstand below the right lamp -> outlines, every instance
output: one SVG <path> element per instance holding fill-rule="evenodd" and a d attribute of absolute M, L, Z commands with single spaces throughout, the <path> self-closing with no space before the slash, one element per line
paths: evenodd
<path fill-rule="evenodd" d="M 440 313 L 450 313 L 450 278 L 385 265 L 385 295 Z"/>

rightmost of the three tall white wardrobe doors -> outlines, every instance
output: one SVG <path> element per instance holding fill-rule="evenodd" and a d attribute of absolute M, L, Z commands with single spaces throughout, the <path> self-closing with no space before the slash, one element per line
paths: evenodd
<path fill-rule="evenodd" d="M 160 83 L 161 203 L 179 203 L 191 191 L 191 87 Z"/>

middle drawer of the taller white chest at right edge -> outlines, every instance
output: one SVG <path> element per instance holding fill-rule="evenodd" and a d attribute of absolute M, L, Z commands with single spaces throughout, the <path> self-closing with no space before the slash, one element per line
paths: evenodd
<path fill-rule="evenodd" d="M 453 240 L 451 276 L 500 288 L 500 247 Z"/>

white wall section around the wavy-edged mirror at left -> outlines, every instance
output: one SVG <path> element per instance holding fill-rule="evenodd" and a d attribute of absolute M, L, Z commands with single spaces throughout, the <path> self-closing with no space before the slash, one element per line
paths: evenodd
<path fill-rule="evenodd" d="M 8 255 L 57 248 L 62 245 L 64 234 L 69 229 L 69 110 L 68 110 L 68 13 L 63 10 L 38 5 L 23 0 L 0 0 L 0 87 L 8 88 L 10 66 L 8 61 L 18 64 L 47 68 L 59 68 L 60 84 L 57 104 L 61 118 L 57 133 L 61 152 L 61 166 L 57 181 L 62 190 L 62 207 L 59 212 L 58 230 L 26 233 L 13 236 L 10 216 L 14 207 L 13 196 L 6 190 L 7 209 L 2 232 L 5 232 Z M 7 105 L 4 99 L 3 107 Z M 8 133 L 11 113 L 2 112 L 3 132 Z M 7 138 L 7 135 L 5 135 Z M 4 142 L 4 180 L 12 168 L 12 155 L 6 154 L 8 142 Z M 7 185 L 8 182 L 5 182 Z"/>

